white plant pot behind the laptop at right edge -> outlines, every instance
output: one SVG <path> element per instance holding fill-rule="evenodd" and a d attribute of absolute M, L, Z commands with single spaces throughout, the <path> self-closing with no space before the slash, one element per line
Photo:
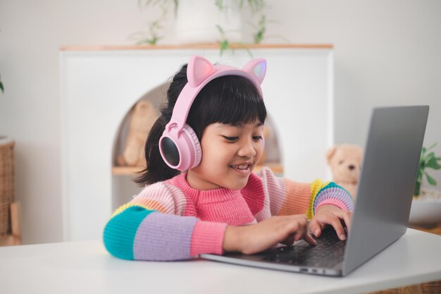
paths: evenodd
<path fill-rule="evenodd" d="M 409 224 L 434 225 L 441 223 L 441 191 L 421 189 L 412 201 Z"/>

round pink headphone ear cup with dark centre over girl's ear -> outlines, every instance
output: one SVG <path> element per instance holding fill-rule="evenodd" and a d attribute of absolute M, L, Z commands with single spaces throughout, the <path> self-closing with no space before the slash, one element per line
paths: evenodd
<path fill-rule="evenodd" d="M 202 158 L 201 145 L 194 130 L 185 124 L 181 131 L 176 127 L 164 130 L 159 139 L 163 161 L 172 169 L 186 171 L 197 166 Z"/>

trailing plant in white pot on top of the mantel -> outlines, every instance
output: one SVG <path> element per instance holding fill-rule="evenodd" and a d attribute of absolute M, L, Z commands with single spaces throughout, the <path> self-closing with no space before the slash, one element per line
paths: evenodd
<path fill-rule="evenodd" d="M 254 44 L 259 44 L 266 33 L 267 8 L 264 0 L 215 0 L 179 1 L 179 0 L 138 0 L 139 7 L 156 6 L 160 8 L 159 17 L 149 23 L 147 32 L 137 32 L 131 37 L 137 44 L 157 44 L 163 36 L 160 31 L 163 23 L 173 11 L 176 18 L 176 37 L 182 43 L 217 42 L 221 54 L 230 49 L 230 44 L 242 42 L 242 11 L 249 12 L 247 23 L 254 32 L 250 37 Z M 195 12 L 195 6 L 204 13 Z M 217 37 L 216 37 L 217 36 Z"/>

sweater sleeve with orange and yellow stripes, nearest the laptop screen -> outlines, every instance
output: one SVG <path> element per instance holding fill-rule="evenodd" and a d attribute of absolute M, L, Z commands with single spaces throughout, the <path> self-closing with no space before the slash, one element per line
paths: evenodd
<path fill-rule="evenodd" d="M 349 192 L 333 182 L 297 183 L 274 176 L 270 169 L 262 169 L 258 176 L 270 199 L 271 215 L 306 214 L 311 219 L 318 207 L 333 204 L 340 209 L 352 210 L 354 203 Z"/>

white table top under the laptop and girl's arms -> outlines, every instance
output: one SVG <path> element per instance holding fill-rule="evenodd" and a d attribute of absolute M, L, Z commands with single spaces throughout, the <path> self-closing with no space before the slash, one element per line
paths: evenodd
<path fill-rule="evenodd" d="M 441 236 L 409 229 L 344 278 L 194 259 L 133 262 L 99 240 L 0 247 L 0 293 L 366 293 L 441 279 Z"/>

